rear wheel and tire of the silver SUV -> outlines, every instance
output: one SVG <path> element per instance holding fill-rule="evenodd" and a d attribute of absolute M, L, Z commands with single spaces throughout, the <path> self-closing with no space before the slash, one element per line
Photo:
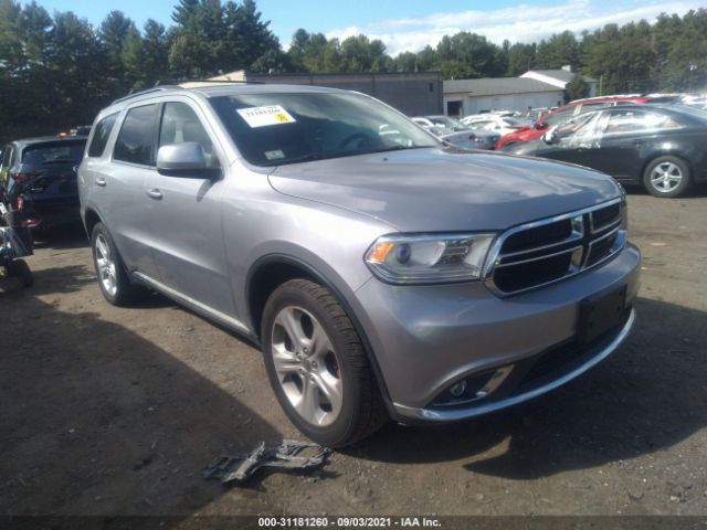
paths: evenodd
<path fill-rule="evenodd" d="M 130 283 L 120 254 L 103 223 L 91 233 L 91 253 L 104 298 L 114 306 L 127 306 L 143 298 L 147 290 Z"/>

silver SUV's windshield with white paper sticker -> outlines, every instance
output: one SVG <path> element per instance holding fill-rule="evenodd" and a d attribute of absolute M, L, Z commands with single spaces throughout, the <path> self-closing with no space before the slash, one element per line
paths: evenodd
<path fill-rule="evenodd" d="M 440 146 L 408 118 L 356 94 L 246 94 L 211 105 L 256 166 Z"/>

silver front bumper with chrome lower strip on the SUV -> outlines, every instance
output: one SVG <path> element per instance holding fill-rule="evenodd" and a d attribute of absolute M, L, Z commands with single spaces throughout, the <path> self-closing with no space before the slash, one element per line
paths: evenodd
<path fill-rule="evenodd" d="M 369 280 L 356 293 L 355 309 L 393 415 L 402 422 L 473 417 L 538 396 L 589 370 L 633 327 L 640 262 L 637 247 L 627 244 L 594 269 L 504 299 L 481 283 L 394 286 Z M 629 308 L 624 319 L 597 341 L 578 346 L 582 300 L 622 287 Z M 548 369 L 549 362 L 557 370 Z M 545 364 L 545 371 L 530 381 L 525 375 L 537 372 L 534 364 Z M 482 399 L 437 405 L 455 382 L 494 372 L 504 381 L 490 384 Z"/>

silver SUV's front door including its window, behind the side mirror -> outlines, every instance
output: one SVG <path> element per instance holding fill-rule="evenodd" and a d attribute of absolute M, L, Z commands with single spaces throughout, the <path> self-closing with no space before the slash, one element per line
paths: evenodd
<path fill-rule="evenodd" d="M 152 171 L 144 186 L 159 278 L 193 300 L 233 315 L 221 215 L 225 158 L 196 104 L 188 98 L 165 103 L 159 147 L 186 141 L 201 145 L 211 174 L 175 177 Z"/>

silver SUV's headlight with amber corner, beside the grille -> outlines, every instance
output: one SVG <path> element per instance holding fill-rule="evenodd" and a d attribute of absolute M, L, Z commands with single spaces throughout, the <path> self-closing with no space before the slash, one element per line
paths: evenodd
<path fill-rule="evenodd" d="M 366 253 L 383 282 L 430 284 L 478 279 L 494 234 L 384 235 Z"/>

